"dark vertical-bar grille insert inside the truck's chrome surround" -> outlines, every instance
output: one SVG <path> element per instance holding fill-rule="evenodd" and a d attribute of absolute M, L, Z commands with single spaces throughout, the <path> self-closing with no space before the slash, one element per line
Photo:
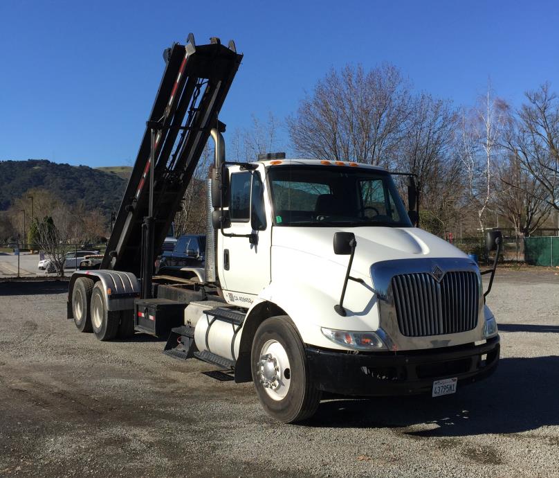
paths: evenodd
<path fill-rule="evenodd" d="M 447 272 L 441 282 L 422 272 L 392 277 L 400 332 L 425 337 L 477 326 L 479 288 L 475 272 Z"/>

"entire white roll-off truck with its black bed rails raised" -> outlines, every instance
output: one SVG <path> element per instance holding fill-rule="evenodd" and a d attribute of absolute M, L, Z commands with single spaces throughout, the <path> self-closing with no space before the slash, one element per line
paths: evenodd
<path fill-rule="evenodd" d="M 266 412 L 303 421 L 322 392 L 456 393 L 491 375 L 500 338 L 480 272 L 418 226 L 392 175 L 351 161 L 260 155 L 226 161 L 219 110 L 241 63 L 235 44 L 165 50 L 165 71 L 101 268 L 73 274 L 68 318 L 98 339 L 167 337 L 216 378 L 253 381 Z M 154 275 L 154 258 L 212 137 L 205 269 Z M 415 224 L 414 224 L 415 223 Z M 482 274 L 491 274 L 482 290 Z"/>

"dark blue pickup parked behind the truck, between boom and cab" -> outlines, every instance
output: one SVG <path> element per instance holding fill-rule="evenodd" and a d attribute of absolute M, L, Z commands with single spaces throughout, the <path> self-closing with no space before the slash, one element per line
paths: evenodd
<path fill-rule="evenodd" d="M 205 235 L 186 234 L 176 241 L 174 250 L 163 252 L 156 261 L 156 273 L 168 274 L 183 267 L 204 267 Z M 173 275 L 173 274 L 172 274 Z"/>

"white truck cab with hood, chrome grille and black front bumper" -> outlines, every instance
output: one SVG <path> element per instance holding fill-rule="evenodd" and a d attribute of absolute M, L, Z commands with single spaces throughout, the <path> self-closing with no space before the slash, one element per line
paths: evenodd
<path fill-rule="evenodd" d="M 214 225 L 223 297 L 246 310 L 248 330 L 259 310 L 283 317 L 315 387 L 439 396 L 494 371 L 499 337 L 477 264 L 413 226 L 390 172 L 272 159 L 226 165 L 221 183 Z M 348 237 L 354 245 L 344 251 L 336 242 Z M 237 357 L 248 353 L 244 328 Z M 253 379 L 271 414 L 269 399 L 284 400 L 291 387 L 281 375 L 291 375 L 291 352 L 285 337 L 277 342 L 272 352 L 270 344 L 253 350 Z"/>

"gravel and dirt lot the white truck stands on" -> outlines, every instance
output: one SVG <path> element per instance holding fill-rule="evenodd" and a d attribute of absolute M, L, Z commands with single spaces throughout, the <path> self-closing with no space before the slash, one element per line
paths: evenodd
<path fill-rule="evenodd" d="M 252 384 L 212 380 L 164 342 L 78 333 L 65 290 L 0 283 L 0 475 L 557 476 L 553 271 L 497 279 L 490 379 L 436 400 L 329 400 L 306 425 L 271 421 Z"/>

